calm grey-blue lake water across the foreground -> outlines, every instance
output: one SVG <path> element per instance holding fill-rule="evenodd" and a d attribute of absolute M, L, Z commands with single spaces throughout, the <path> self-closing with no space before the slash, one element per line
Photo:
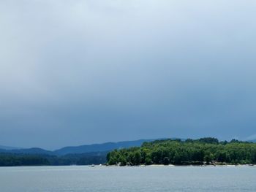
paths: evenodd
<path fill-rule="evenodd" d="M 256 191 L 256 167 L 1 167 L 0 191 Z"/>

